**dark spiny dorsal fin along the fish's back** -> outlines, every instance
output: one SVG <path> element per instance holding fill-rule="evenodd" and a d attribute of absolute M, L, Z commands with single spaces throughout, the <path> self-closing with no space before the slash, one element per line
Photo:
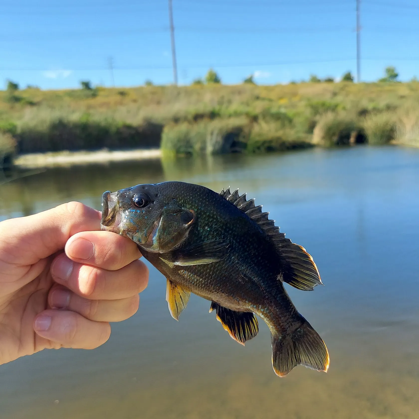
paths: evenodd
<path fill-rule="evenodd" d="M 282 261 L 282 274 L 280 279 L 299 290 L 313 290 L 316 285 L 322 284 L 320 274 L 313 258 L 302 246 L 292 243 L 285 238 L 285 233 L 279 232 L 274 220 L 269 220 L 269 212 L 262 212 L 262 205 L 255 207 L 254 198 L 246 199 L 246 194 L 239 195 L 238 189 L 230 192 L 230 186 L 220 195 L 234 204 L 238 209 L 248 215 L 251 220 L 264 231 L 277 250 Z"/>

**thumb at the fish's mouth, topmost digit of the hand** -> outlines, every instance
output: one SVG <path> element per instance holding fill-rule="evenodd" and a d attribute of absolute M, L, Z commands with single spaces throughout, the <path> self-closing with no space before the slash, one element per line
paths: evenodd
<path fill-rule="evenodd" d="M 80 202 L 0 223 L 0 236 L 14 263 L 34 264 L 62 250 L 80 231 L 100 230 L 101 212 Z"/>

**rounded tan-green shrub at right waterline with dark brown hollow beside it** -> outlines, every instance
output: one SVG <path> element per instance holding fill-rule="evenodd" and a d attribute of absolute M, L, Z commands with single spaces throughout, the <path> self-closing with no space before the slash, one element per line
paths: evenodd
<path fill-rule="evenodd" d="M 349 145 L 357 142 L 356 137 L 363 133 L 362 127 L 348 114 L 328 112 L 323 114 L 313 131 L 313 143 L 323 147 Z"/>

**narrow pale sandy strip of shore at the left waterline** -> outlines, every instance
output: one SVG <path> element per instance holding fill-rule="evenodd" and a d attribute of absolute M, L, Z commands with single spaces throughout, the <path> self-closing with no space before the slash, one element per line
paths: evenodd
<path fill-rule="evenodd" d="M 21 154 L 14 159 L 14 165 L 22 168 L 73 166 L 89 163 L 109 163 L 124 160 L 145 160 L 161 157 L 160 149 L 150 150 L 98 150 L 59 151 L 55 153 Z"/>

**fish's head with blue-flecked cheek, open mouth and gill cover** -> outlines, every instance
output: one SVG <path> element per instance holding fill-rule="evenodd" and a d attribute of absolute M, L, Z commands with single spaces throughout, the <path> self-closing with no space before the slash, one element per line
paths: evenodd
<path fill-rule="evenodd" d="M 163 184 L 142 184 L 102 196 L 102 230 L 133 240 L 153 253 L 178 248 L 194 224 L 194 210 L 184 208 Z"/>

